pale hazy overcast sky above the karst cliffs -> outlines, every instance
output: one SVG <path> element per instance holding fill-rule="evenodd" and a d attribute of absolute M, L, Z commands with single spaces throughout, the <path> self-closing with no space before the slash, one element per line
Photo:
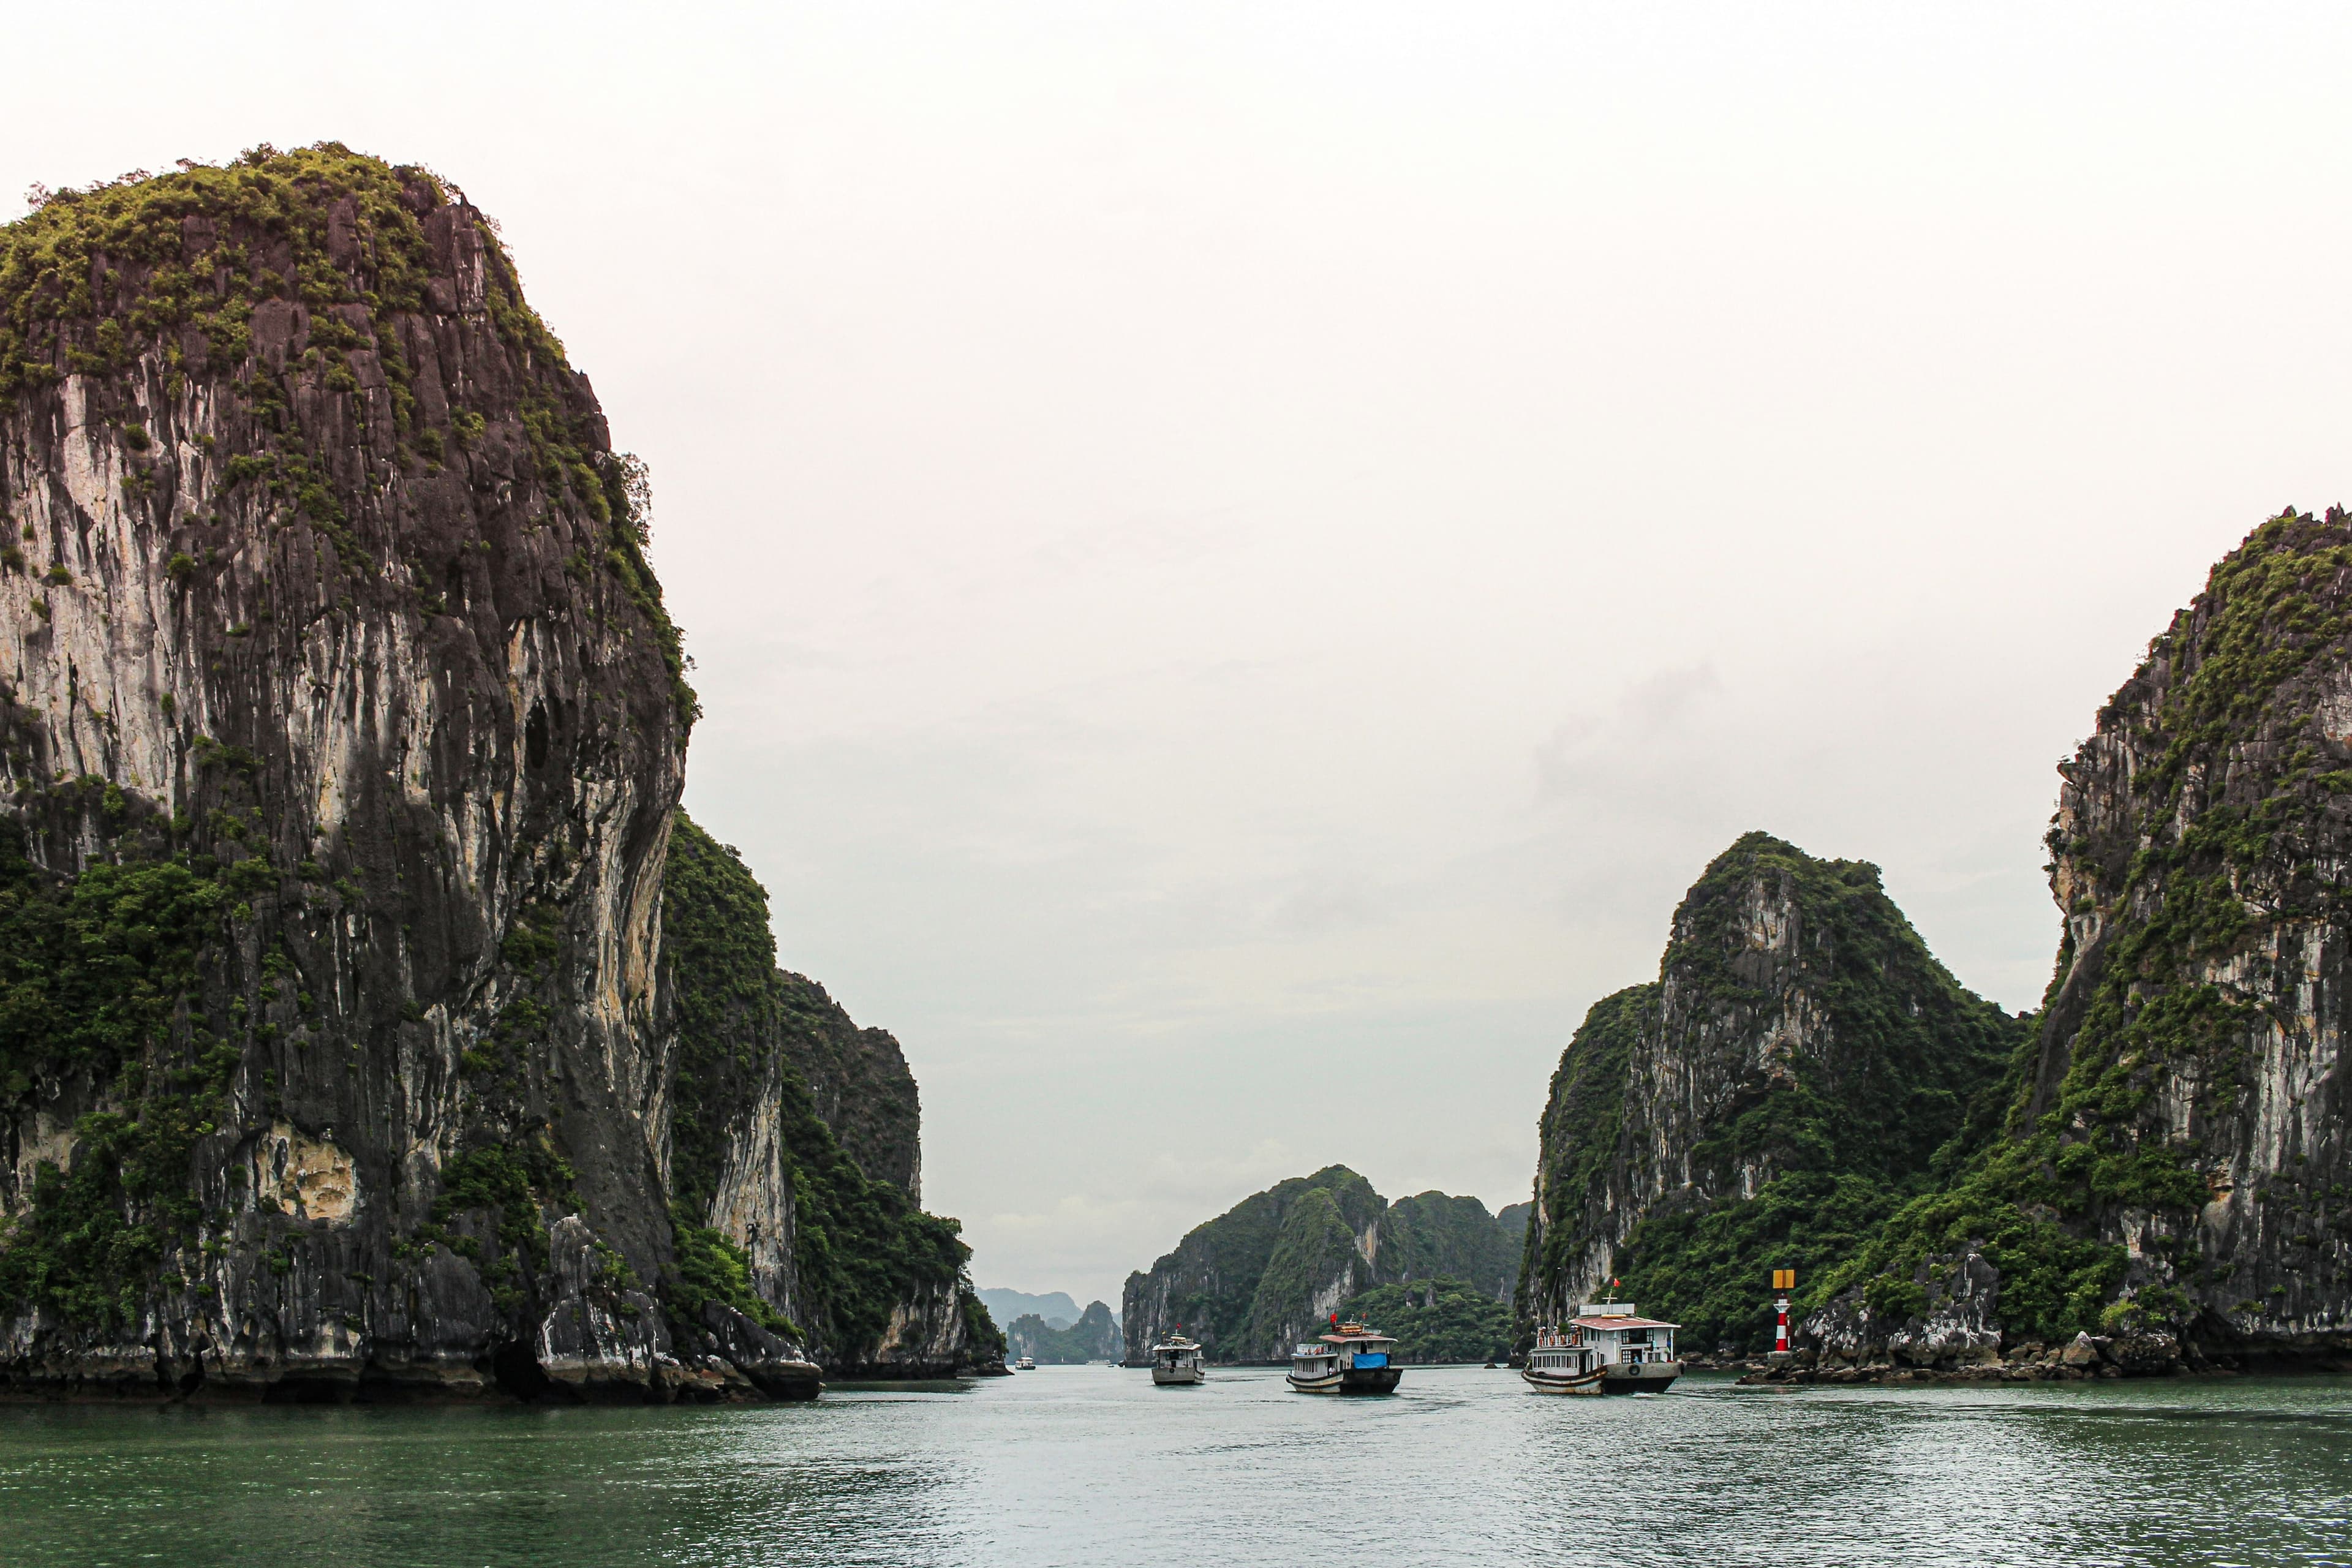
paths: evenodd
<path fill-rule="evenodd" d="M 2345 7 L 16 7 L 0 190 L 428 162 L 981 1284 L 1526 1197 L 1748 827 L 2032 1006 L 2051 764 L 2352 498 Z M 21 202 L 0 197 L 0 214 Z"/>

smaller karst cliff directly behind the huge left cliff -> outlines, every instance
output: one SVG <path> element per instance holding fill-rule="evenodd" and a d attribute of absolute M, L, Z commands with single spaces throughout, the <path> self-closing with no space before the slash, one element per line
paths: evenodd
<path fill-rule="evenodd" d="M 776 969 L 767 891 L 684 813 L 670 837 L 663 947 L 677 1013 L 680 1248 L 710 1253 L 689 1276 L 736 1312 L 781 1319 L 769 1326 L 802 1335 L 828 1371 L 955 1375 L 1002 1361 L 955 1220 L 922 1213 L 910 1192 L 915 1081 L 896 1041 L 861 1032 L 821 987 Z M 800 1063 L 840 1060 L 842 1044 L 873 1039 L 889 1044 L 898 1084 L 875 1072 L 858 1091 L 837 1088 L 833 1121 Z M 861 1093 L 896 1093 L 896 1105 L 877 1110 Z M 854 1157 L 861 1135 L 866 1161 Z"/>

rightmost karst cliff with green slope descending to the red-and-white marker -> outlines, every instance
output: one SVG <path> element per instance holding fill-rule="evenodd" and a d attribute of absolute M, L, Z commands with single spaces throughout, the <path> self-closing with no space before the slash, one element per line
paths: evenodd
<path fill-rule="evenodd" d="M 2352 520 L 2281 512 L 2100 710 L 2006 1124 L 1823 1276 L 1790 1375 L 2352 1366 L 2347 611 Z"/>

